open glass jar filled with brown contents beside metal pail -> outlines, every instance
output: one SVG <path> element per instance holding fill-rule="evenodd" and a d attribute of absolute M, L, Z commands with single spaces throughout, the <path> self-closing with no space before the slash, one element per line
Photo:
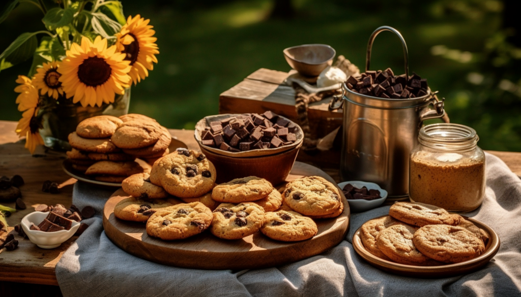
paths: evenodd
<path fill-rule="evenodd" d="M 456 212 L 477 209 L 485 195 L 485 153 L 478 140 L 464 125 L 422 127 L 409 163 L 411 201 Z"/>

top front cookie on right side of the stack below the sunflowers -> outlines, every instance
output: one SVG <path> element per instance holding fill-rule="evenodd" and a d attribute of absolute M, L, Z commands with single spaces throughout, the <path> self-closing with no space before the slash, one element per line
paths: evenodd
<path fill-rule="evenodd" d="M 157 122 L 129 121 L 119 125 L 110 141 L 122 149 L 144 148 L 155 144 L 163 133 Z"/>

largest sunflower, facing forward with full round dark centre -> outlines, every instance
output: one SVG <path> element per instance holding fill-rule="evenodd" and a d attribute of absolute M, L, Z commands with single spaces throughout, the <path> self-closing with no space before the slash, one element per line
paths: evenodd
<path fill-rule="evenodd" d="M 81 46 L 73 43 L 61 62 L 58 79 L 67 98 L 74 96 L 73 103 L 101 106 L 114 102 L 115 94 L 125 94 L 131 84 L 128 72 L 130 62 L 123 60 L 125 54 L 116 53 L 116 46 L 107 48 L 107 40 L 97 36 L 92 43 L 81 38 Z"/>

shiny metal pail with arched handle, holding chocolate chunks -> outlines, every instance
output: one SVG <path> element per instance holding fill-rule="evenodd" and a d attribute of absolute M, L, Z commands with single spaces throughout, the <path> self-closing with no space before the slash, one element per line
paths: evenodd
<path fill-rule="evenodd" d="M 374 39 L 382 31 L 400 37 L 408 80 L 407 45 L 400 32 L 387 26 L 376 29 L 369 37 L 365 70 L 369 70 Z M 411 99 L 366 96 L 351 91 L 345 83 L 342 91 L 342 180 L 373 182 L 386 189 L 391 200 L 406 199 L 409 155 L 418 143 L 423 121 L 444 117 L 443 101 L 430 89 L 427 95 Z M 339 108 L 334 107 L 338 99 L 331 102 L 330 108 Z"/>

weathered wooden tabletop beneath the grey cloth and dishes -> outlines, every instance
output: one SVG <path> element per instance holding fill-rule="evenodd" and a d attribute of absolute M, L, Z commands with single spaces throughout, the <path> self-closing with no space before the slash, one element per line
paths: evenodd
<path fill-rule="evenodd" d="M 56 203 L 69 206 L 72 201 L 72 185 L 76 179 L 71 178 L 61 169 L 65 153 L 44 150 L 39 147 L 35 156 L 23 148 L 14 130 L 16 122 L 0 121 L 0 176 L 21 175 L 26 184 L 21 186 L 23 201 L 27 209 L 18 211 L 7 218 L 10 231 L 20 223 L 21 218 L 34 211 L 40 203 L 54 205 Z M 173 137 L 183 141 L 188 148 L 199 150 L 193 138 L 192 130 L 170 130 Z M 521 153 L 489 151 L 501 158 L 517 175 L 521 175 Z M 314 164 L 320 166 L 320 164 Z M 338 170 L 322 168 L 338 181 Z M 53 180 L 59 184 L 60 192 L 51 194 L 42 192 L 45 180 Z M 108 198 L 108 197 L 107 197 Z M 14 203 L 5 203 L 15 207 Z M 14 231 L 13 231 L 14 232 Z M 20 239 L 18 235 L 17 239 Z M 39 283 L 58 285 L 55 266 L 61 255 L 77 237 L 72 237 L 59 248 L 44 250 L 35 246 L 28 239 L 19 240 L 19 247 L 14 251 L 0 251 L 0 281 Z"/>

